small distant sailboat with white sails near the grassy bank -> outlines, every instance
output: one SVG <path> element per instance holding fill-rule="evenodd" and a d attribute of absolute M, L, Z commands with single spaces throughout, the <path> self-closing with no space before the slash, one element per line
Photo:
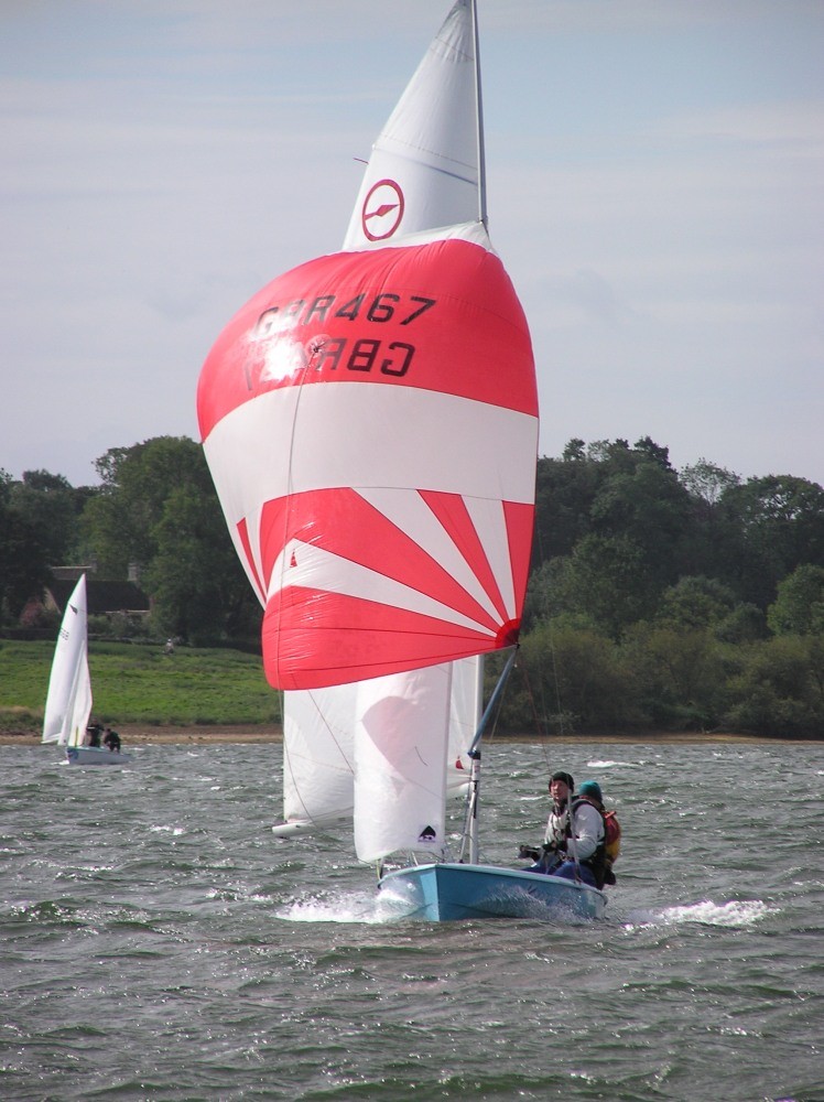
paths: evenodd
<path fill-rule="evenodd" d="M 88 663 L 86 575 L 82 574 L 66 603 L 48 678 L 43 716 L 43 742 L 66 748 L 69 765 L 122 765 L 128 754 L 102 746 L 85 746 L 91 715 Z"/>

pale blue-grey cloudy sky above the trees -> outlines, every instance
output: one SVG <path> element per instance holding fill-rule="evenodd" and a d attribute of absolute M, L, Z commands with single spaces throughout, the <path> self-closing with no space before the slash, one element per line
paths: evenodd
<path fill-rule="evenodd" d="M 449 0 L 0 0 L 0 468 L 198 439 L 200 366 L 336 251 Z M 541 455 L 824 484 L 824 0 L 479 0 L 489 230 Z"/>

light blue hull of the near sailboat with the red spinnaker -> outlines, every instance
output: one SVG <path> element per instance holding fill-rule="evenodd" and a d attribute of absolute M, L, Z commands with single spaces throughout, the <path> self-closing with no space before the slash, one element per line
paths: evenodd
<path fill-rule="evenodd" d="M 494 865 L 414 865 L 380 880 L 408 907 L 404 917 L 427 922 L 478 918 L 604 917 L 606 896 L 587 884 Z"/>

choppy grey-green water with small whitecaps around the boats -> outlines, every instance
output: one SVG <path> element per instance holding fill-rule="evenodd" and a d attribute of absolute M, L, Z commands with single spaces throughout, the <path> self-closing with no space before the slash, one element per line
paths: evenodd
<path fill-rule="evenodd" d="M 399 922 L 277 746 L 0 747 L 0 1098 L 824 1100 L 824 745 L 492 744 L 483 857 L 599 779 L 609 917 Z"/>

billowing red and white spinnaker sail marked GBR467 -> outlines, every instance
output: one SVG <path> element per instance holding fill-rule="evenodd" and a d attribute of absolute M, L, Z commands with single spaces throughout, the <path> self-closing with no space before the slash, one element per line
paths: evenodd
<path fill-rule="evenodd" d="M 197 408 L 265 607 L 272 685 L 340 684 L 517 639 L 535 377 L 480 224 L 275 279 L 218 338 Z"/>

